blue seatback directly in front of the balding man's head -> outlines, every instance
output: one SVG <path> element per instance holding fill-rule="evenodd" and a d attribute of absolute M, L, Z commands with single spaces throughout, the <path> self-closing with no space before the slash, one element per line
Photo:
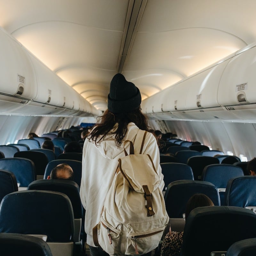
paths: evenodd
<path fill-rule="evenodd" d="M 59 159 L 49 162 L 45 168 L 44 179 L 47 179 L 47 176 L 50 175 L 52 169 L 56 167 L 58 164 L 70 165 L 74 172 L 74 181 L 80 187 L 82 177 L 82 162 L 76 160 Z"/>

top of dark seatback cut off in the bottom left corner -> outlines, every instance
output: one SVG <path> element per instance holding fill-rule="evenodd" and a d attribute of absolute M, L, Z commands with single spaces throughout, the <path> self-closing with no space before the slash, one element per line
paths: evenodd
<path fill-rule="evenodd" d="M 52 256 L 52 252 L 41 238 L 15 233 L 0 233 L 0 255 Z"/>

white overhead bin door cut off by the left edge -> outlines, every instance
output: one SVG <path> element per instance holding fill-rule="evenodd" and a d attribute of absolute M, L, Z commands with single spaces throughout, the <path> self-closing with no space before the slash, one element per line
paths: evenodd
<path fill-rule="evenodd" d="M 27 52 L 2 28 L 0 41 L 0 92 L 33 99 L 36 96 L 36 79 Z"/>

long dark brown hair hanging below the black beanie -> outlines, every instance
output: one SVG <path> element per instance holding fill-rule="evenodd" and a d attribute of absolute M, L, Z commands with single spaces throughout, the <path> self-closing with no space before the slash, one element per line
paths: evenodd
<path fill-rule="evenodd" d="M 103 115 L 100 116 L 98 123 L 95 124 L 94 129 L 87 136 L 87 138 L 97 143 L 104 140 L 107 135 L 113 134 L 116 139 L 116 146 L 120 146 L 127 132 L 127 125 L 131 122 L 133 122 L 141 130 L 148 132 L 150 130 L 148 120 L 146 116 L 140 112 L 140 108 L 137 108 L 130 113 L 119 114 L 113 114 L 107 109 Z M 110 132 L 116 124 L 118 124 L 116 129 Z"/>

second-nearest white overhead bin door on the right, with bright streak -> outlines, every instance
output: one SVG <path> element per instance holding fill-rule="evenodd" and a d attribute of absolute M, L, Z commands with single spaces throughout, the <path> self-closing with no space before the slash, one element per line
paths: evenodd
<path fill-rule="evenodd" d="M 186 96 L 187 109 L 220 106 L 217 101 L 218 85 L 228 61 L 226 60 L 185 81 L 189 83 Z"/>

